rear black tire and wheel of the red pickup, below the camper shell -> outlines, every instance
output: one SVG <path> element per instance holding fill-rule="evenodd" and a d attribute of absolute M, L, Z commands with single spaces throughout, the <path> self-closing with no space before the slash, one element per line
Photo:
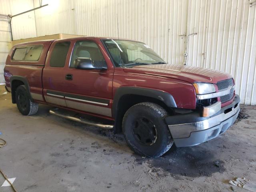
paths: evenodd
<path fill-rule="evenodd" d="M 34 115 L 38 111 L 38 103 L 30 100 L 29 92 L 24 85 L 20 85 L 16 89 L 15 99 L 22 115 Z"/>

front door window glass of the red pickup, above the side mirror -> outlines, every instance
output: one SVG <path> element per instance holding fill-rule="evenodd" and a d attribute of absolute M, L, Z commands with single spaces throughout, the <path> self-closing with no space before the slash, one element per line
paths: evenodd
<path fill-rule="evenodd" d="M 93 41 L 76 42 L 70 60 L 70 68 L 74 68 L 76 58 L 90 58 L 94 63 L 105 62 L 100 49 Z"/>

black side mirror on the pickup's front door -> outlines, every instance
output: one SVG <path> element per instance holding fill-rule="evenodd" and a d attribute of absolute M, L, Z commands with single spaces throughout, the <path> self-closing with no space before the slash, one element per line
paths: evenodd
<path fill-rule="evenodd" d="M 93 62 L 91 58 L 78 57 L 74 61 L 74 67 L 76 69 L 84 70 L 106 70 L 107 64 L 105 61 L 95 61 Z"/>

